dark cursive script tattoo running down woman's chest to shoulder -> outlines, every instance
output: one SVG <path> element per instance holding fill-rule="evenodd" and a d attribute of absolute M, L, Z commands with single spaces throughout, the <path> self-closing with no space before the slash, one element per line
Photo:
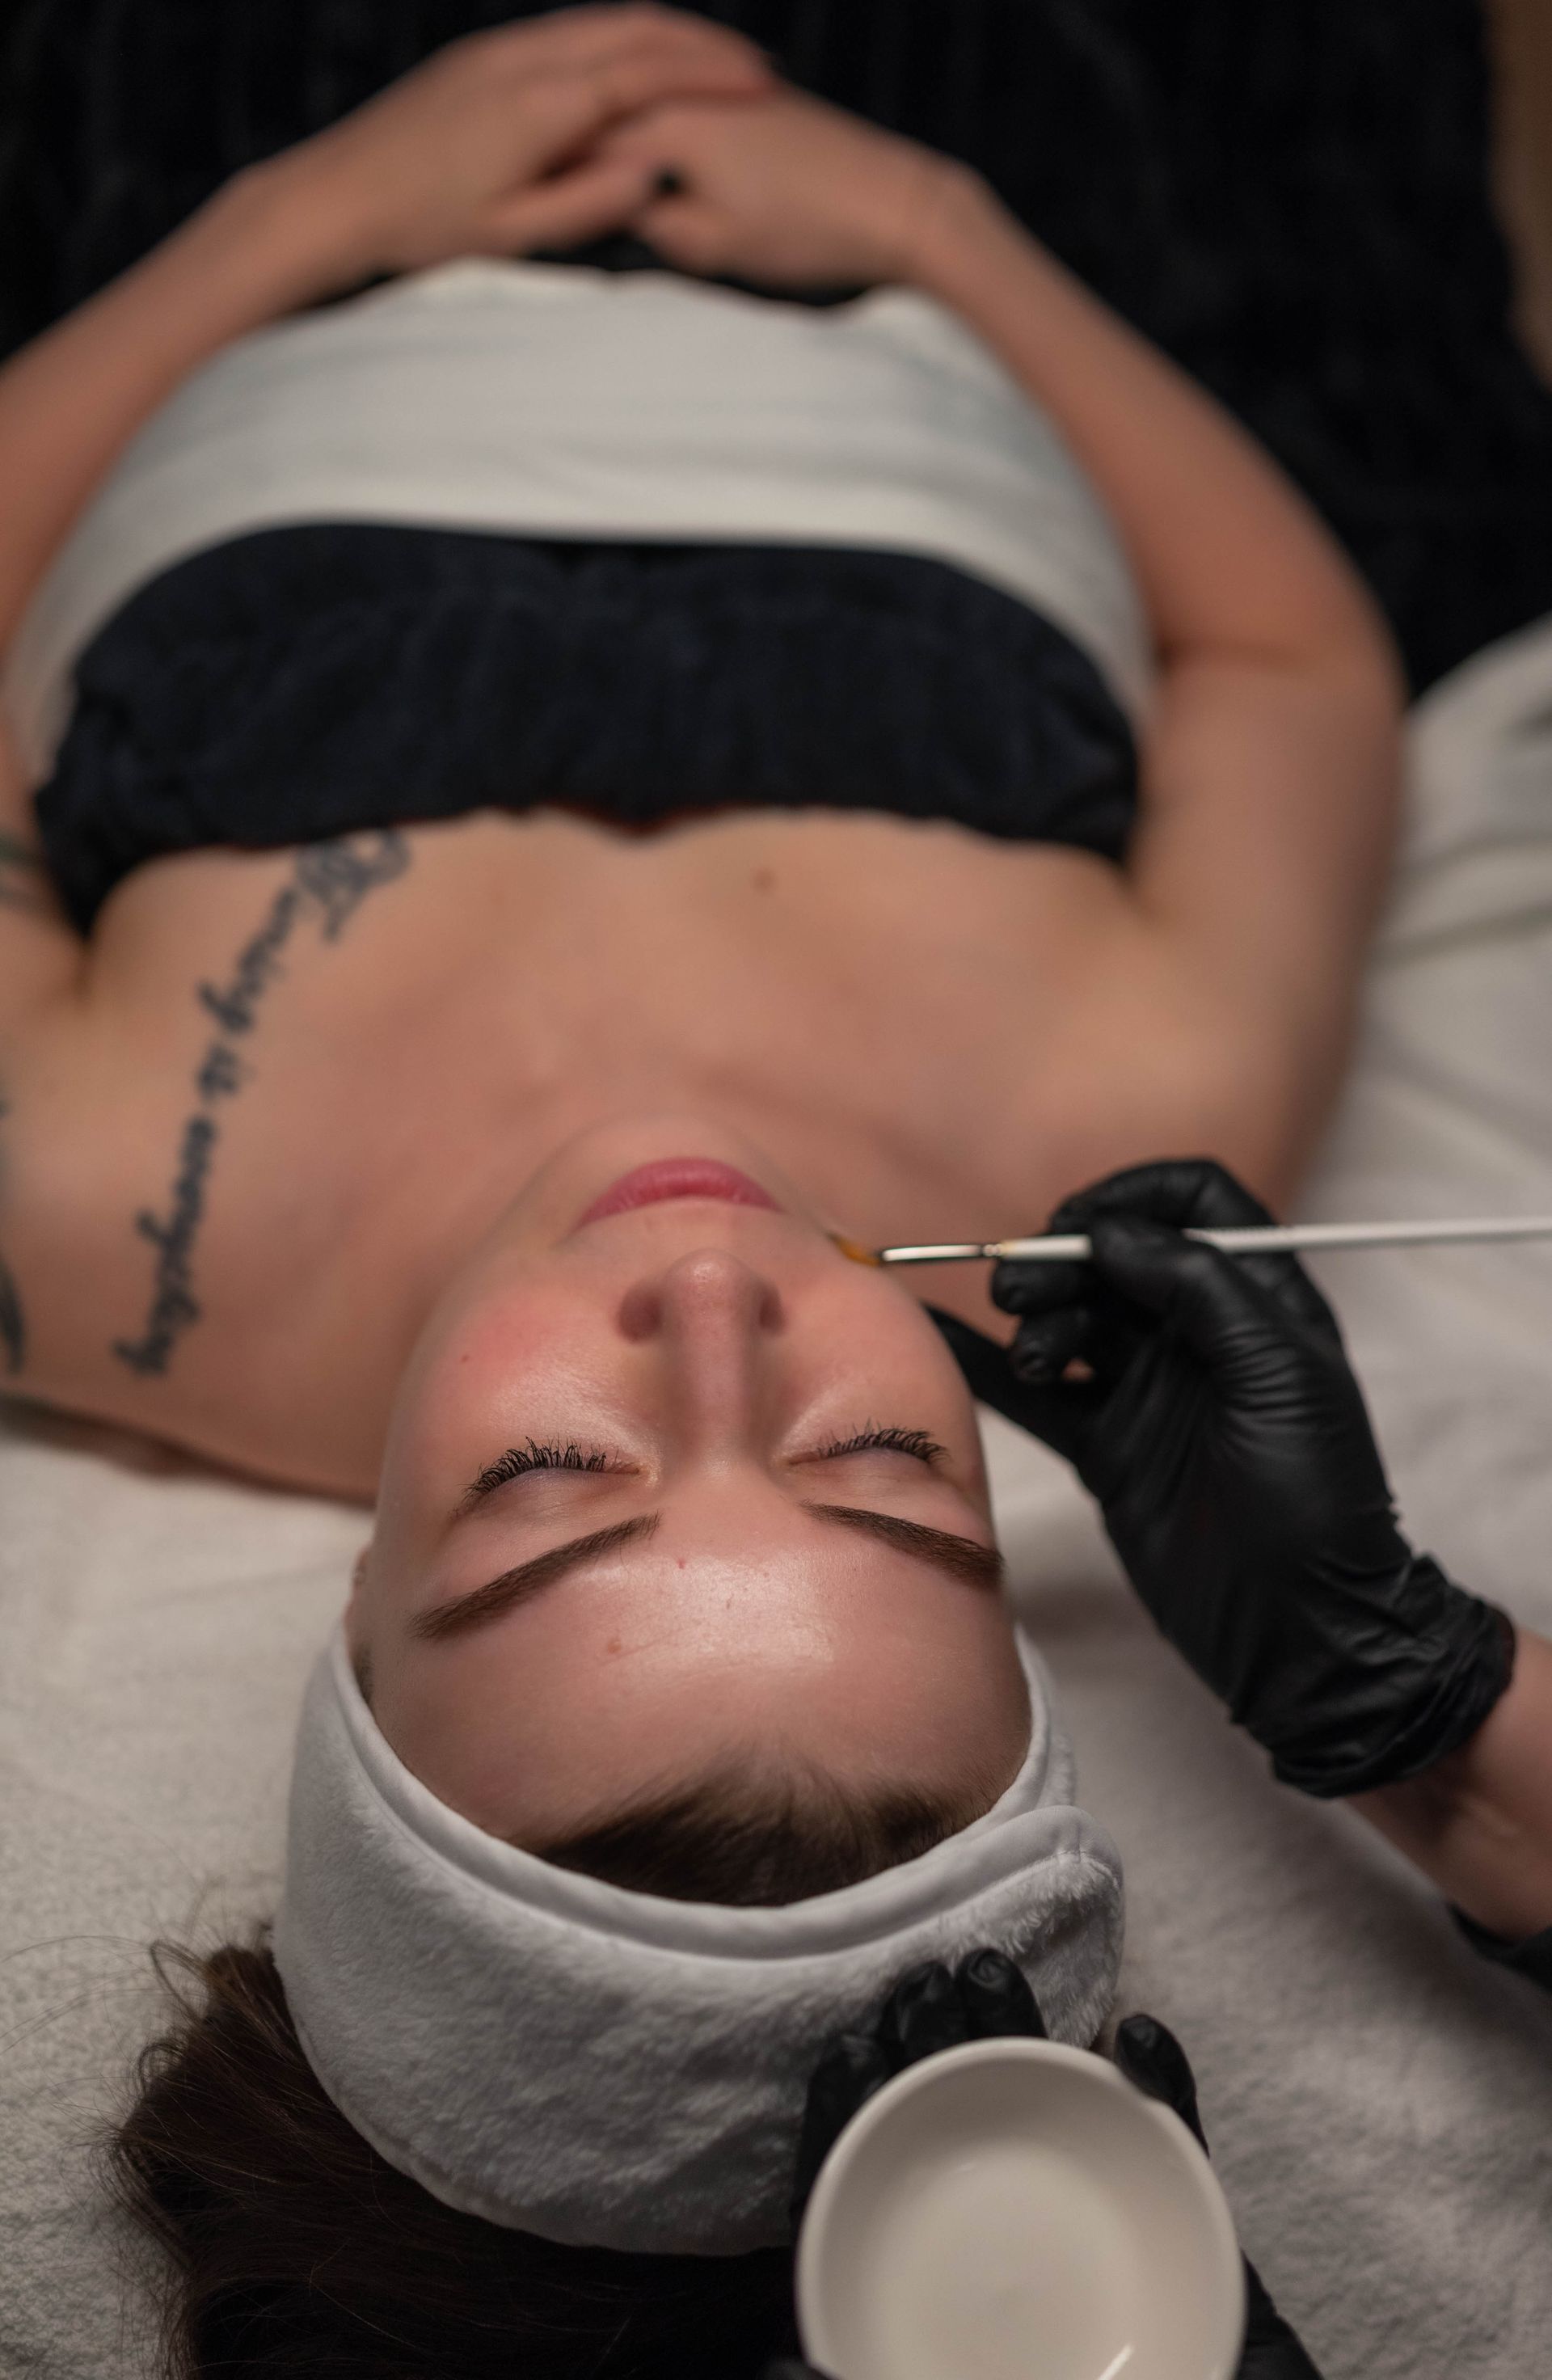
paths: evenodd
<path fill-rule="evenodd" d="M 295 935 L 312 926 L 321 942 L 338 942 L 369 892 L 409 866 L 409 843 L 395 828 L 343 835 L 298 852 L 290 883 L 281 885 L 259 931 L 236 954 L 224 983 L 200 983 L 195 1000 L 214 1033 L 193 1071 L 195 1107 L 183 1123 L 171 1188 L 162 1214 L 143 1209 L 136 1230 L 155 1250 L 152 1295 L 136 1340 L 114 1340 L 121 1364 L 164 1376 L 179 1338 L 200 1321 L 193 1257 L 209 1197 L 209 1171 L 221 1142 L 221 1107 L 252 1076 L 245 1059 L 264 997 L 283 973 Z"/>

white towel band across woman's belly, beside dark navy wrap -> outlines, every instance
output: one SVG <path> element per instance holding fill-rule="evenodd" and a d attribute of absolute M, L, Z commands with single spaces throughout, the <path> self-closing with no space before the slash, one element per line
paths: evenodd
<path fill-rule="evenodd" d="M 33 778 L 76 657 L 138 585 L 257 528 L 362 519 L 931 555 L 1047 614 L 1147 707 L 1147 631 L 1097 495 L 945 307 L 464 259 L 233 340 L 152 414 L 12 638 Z"/>

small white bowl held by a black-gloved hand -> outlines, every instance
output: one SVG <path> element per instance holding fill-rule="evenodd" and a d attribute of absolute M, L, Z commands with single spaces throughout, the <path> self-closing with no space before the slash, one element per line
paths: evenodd
<path fill-rule="evenodd" d="M 797 2325 L 831 2380 L 1233 2380 L 1245 2275 L 1178 2116 L 1088 2049 L 969 2042 L 831 2149 Z"/>

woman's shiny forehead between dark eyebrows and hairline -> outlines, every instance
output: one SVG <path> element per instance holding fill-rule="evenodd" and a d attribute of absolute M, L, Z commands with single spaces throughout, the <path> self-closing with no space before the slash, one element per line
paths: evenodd
<path fill-rule="evenodd" d="M 728 1559 L 664 1528 L 467 1642 L 383 1661 L 378 1723 L 433 1792 L 533 1840 L 766 1752 L 952 1790 L 1028 1733 L 1002 1599 L 840 1530 Z"/>

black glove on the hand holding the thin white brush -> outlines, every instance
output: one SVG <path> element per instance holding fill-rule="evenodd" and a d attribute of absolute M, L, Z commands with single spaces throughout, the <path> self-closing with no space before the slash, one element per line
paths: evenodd
<path fill-rule="evenodd" d="M 1154 1621 L 1276 1775 L 1354 1795 L 1476 1735 L 1514 1633 L 1397 1530 L 1335 1319 L 1300 1264 L 1183 1238 L 1269 1221 L 1207 1161 L 1066 1200 L 1047 1228 L 1085 1230 L 1093 1261 L 995 1269 L 1021 1323 L 993 1402 L 1074 1464 Z M 962 1352 L 978 1395 L 988 1347 Z M 1064 1378 L 1074 1357 L 1090 1378 Z"/>

